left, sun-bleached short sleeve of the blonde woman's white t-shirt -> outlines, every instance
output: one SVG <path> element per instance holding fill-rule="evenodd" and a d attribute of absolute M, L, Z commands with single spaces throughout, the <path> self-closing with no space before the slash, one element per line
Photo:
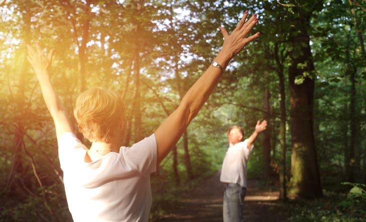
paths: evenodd
<path fill-rule="evenodd" d="M 65 132 L 58 140 L 59 158 L 61 169 L 65 171 L 68 166 L 78 162 L 78 158 L 85 155 L 86 146 L 76 137 L 73 132 Z"/>

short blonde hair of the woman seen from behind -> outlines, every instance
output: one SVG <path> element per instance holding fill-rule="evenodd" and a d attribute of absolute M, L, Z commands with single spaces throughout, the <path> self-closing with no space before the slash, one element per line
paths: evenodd
<path fill-rule="evenodd" d="M 98 87 L 82 92 L 76 99 L 74 115 L 79 131 L 90 141 L 109 142 L 116 127 L 125 128 L 123 102 L 110 89 Z"/>

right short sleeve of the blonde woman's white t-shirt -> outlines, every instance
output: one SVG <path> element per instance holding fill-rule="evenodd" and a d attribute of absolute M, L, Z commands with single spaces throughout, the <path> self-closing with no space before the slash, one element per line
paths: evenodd
<path fill-rule="evenodd" d="M 133 144 L 131 147 L 121 147 L 120 154 L 126 163 L 143 174 L 156 171 L 156 139 L 155 135 Z"/>

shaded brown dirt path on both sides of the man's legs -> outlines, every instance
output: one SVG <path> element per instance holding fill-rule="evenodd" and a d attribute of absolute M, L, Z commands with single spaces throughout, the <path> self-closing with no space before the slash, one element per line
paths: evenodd
<path fill-rule="evenodd" d="M 164 209 L 165 214 L 154 222 L 222 222 L 223 191 L 224 185 L 220 182 L 218 172 L 203 180 L 194 190 L 178 196 L 177 204 Z M 278 194 L 278 190 L 265 187 L 259 180 L 248 180 L 244 203 L 245 221 L 287 221 L 288 210 L 286 204 L 278 200 Z"/>

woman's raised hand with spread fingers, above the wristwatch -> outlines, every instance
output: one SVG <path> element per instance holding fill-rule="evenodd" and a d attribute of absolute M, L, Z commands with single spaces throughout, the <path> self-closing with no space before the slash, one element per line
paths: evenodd
<path fill-rule="evenodd" d="M 227 54 L 230 59 L 238 54 L 246 44 L 260 35 L 260 32 L 257 32 L 249 37 L 246 37 L 258 21 L 257 14 L 253 14 L 253 16 L 249 18 L 247 22 L 245 22 L 247 16 L 248 11 L 245 11 L 242 19 L 239 21 L 238 25 L 233 30 L 233 32 L 231 32 L 231 34 L 229 34 L 224 27 L 219 27 L 224 35 L 224 44 L 221 51 Z"/>

